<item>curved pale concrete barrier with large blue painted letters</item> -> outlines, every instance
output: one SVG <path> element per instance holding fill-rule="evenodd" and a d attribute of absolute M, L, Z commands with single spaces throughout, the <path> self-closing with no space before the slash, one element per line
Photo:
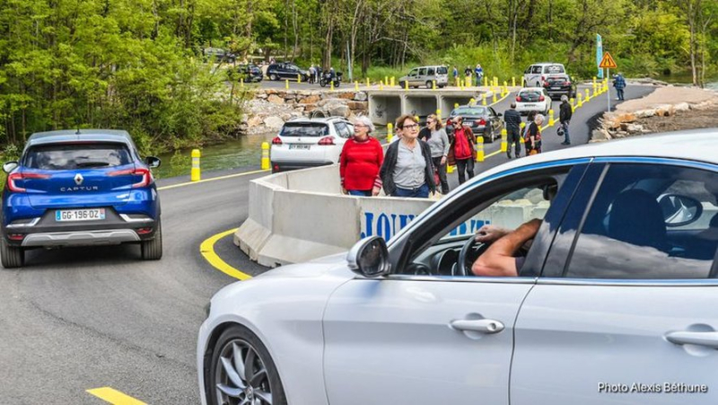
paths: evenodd
<path fill-rule="evenodd" d="M 276 173 L 250 182 L 250 216 L 234 244 L 262 266 L 317 259 L 347 251 L 363 237 L 389 241 L 436 201 L 340 194 L 337 165 Z M 539 198 L 538 198 L 539 199 Z M 516 227 L 543 217 L 546 201 L 503 201 L 449 233 L 476 233 L 485 224 Z"/>

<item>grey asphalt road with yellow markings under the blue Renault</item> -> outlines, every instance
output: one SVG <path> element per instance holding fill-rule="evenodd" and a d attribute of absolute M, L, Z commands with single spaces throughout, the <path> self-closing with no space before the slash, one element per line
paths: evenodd
<path fill-rule="evenodd" d="M 626 98 L 651 91 L 629 86 Z M 574 145 L 586 143 L 586 120 L 605 110 L 605 97 L 575 112 Z M 503 112 L 510 100 L 495 109 Z M 565 147 L 555 131 L 544 132 L 544 151 Z M 499 144 L 486 145 L 486 154 Z M 505 160 L 496 154 L 477 164 L 477 172 Z M 249 181 L 263 174 L 161 189 L 160 261 L 139 260 L 138 246 L 77 248 L 29 251 L 26 267 L 0 270 L 0 403 L 102 404 L 86 392 L 101 387 L 151 404 L 198 403 L 197 329 L 209 298 L 234 281 L 206 262 L 199 245 L 246 219 Z M 456 174 L 450 179 L 455 186 Z M 244 273 L 266 271 L 231 237 L 215 250 Z"/>

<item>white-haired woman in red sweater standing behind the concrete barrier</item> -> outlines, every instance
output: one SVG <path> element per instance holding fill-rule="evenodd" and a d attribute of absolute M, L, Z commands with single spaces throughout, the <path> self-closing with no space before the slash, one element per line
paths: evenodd
<path fill-rule="evenodd" d="M 339 176 L 342 192 L 352 196 L 371 197 L 379 195 L 381 180 L 379 169 L 384 163 L 384 149 L 370 134 L 374 130 L 372 120 L 359 117 L 354 124 L 354 137 L 342 148 L 339 159 Z"/>

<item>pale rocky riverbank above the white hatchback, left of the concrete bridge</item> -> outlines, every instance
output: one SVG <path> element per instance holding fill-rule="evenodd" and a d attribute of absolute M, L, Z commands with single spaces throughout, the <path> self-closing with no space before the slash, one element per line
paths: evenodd
<path fill-rule="evenodd" d="M 245 105 L 247 133 L 260 134 L 282 128 L 295 117 L 352 117 L 366 114 L 366 92 L 262 89 Z"/>

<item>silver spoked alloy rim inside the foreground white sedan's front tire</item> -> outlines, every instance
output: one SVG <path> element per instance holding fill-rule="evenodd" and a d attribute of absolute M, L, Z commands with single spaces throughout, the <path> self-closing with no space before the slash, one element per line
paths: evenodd
<path fill-rule="evenodd" d="M 249 342 L 230 340 L 222 348 L 219 360 L 215 368 L 218 404 L 272 404 L 267 366 Z"/>

